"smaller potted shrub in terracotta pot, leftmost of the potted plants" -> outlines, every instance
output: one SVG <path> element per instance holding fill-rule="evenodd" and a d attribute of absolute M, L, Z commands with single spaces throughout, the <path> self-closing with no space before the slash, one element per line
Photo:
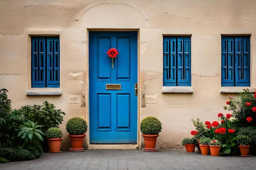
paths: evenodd
<path fill-rule="evenodd" d="M 61 141 L 63 140 L 63 132 L 57 127 L 52 127 L 46 130 L 45 137 L 49 146 L 49 152 L 61 152 Z"/>

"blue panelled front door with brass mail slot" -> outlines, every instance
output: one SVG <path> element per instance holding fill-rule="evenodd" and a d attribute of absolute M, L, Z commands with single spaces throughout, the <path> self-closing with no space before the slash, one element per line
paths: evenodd
<path fill-rule="evenodd" d="M 137 74 L 137 31 L 89 32 L 90 144 L 137 144 Z"/>

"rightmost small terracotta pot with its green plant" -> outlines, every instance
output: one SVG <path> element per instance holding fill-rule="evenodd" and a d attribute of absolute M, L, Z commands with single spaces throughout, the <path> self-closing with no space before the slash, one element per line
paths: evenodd
<path fill-rule="evenodd" d="M 236 140 L 238 142 L 238 147 L 241 152 L 241 156 L 249 155 L 250 150 L 250 144 L 252 142 L 252 139 L 247 135 L 238 135 L 236 137 Z"/>

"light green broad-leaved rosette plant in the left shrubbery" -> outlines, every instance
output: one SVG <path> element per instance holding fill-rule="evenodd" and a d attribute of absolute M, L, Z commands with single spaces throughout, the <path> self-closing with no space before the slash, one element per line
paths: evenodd
<path fill-rule="evenodd" d="M 42 130 L 39 128 L 42 127 L 42 125 L 37 125 L 37 123 L 34 123 L 33 121 L 27 121 L 24 122 L 24 125 L 20 126 L 20 132 L 18 133 L 18 137 L 21 137 L 24 139 L 24 144 L 40 144 L 40 141 L 43 141 L 43 136 L 45 135 Z"/>

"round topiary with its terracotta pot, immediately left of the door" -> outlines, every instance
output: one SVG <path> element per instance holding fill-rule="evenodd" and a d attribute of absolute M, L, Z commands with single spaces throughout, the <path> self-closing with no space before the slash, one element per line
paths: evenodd
<path fill-rule="evenodd" d="M 87 131 L 87 122 L 81 117 L 73 117 L 67 121 L 66 130 L 71 140 L 70 151 L 83 151 L 83 138 Z"/>

